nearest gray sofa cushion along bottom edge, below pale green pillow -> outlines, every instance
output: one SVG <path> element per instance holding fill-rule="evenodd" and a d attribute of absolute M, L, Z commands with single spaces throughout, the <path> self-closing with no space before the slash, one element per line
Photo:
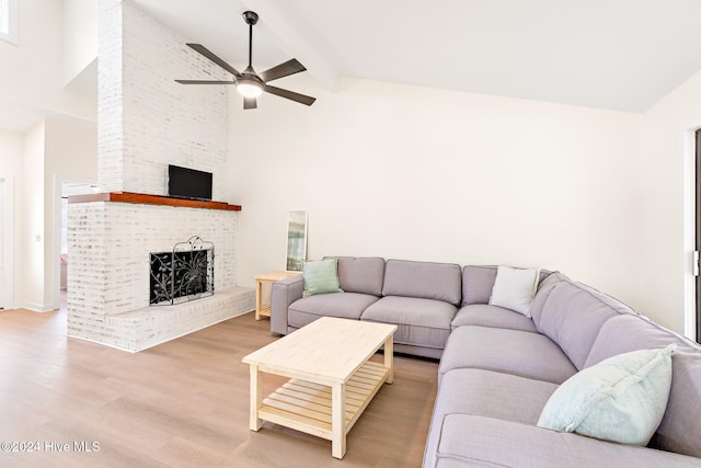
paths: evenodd
<path fill-rule="evenodd" d="M 426 454 L 424 468 L 699 467 L 693 457 L 472 414 L 446 415 L 440 431 L 437 453 Z"/>

